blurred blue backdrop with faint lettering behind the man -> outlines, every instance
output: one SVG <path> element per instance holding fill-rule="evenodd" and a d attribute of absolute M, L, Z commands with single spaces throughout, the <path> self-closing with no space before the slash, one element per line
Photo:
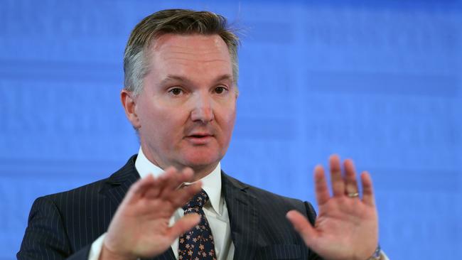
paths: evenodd
<path fill-rule="evenodd" d="M 222 168 L 315 203 L 331 153 L 369 170 L 390 259 L 462 259 L 462 2 L 0 1 L 0 259 L 33 200 L 106 178 L 139 148 L 119 102 L 131 29 L 159 9 L 241 29 Z"/>

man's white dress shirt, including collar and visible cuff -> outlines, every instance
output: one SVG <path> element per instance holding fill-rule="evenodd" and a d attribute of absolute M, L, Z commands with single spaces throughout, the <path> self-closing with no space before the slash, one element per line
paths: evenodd
<path fill-rule="evenodd" d="M 163 173 L 161 168 L 154 165 L 154 163 L 151 163 L 151 161 L 144 156 L 141 148 L 139 148 L 138 157 L 135 161 L 135 168 L 141 178 L 144 178 L 149 174 L 158 178 Z M 221 193 L 220 163 L 218 163 L 217 167 L 211 173 L 200 179 L 200 181 L 202 182 L 203 190 L 205 190 L 205 193 L 207 193 L 209 197 L 209 201 L 205 203 L 203 210 L 213 234 L 217 260 L 232 260 L 235 247 L 234 244 L 232 244 L 230 218 L 228 217 L 225 198 Z M 170 225 L 172 226 L 181 217 L 183 217 L 183 209 L 178 208 L 170 219 Z M 93 242 L 88 256 L 89 260 L 99 259 L 105 236 L 106 233 L 102 234 L 95 240 L 95 242 Z M 173 244 L 171 244 L 171 249 L 173 250 L 173 254 L 175 254 L 176 259 L 178 259 L 178 239 L 179 238 L 177 237 L 175 241 L 173 241 Z"/>

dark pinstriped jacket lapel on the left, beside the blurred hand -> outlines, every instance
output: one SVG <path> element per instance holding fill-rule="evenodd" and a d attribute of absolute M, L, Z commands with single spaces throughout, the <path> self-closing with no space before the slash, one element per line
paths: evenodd
<path fill-rule="evenodd" d="M 130 186 L 138 180 L 139 173 L 135 168 L 135 160 L 136 156 L 131 156 L 129 161 L 122 167 L 120 170 L 117 170 L 116 173 L 112 174 L 104 185 L 104 188 L 100 190 L 100 194 L 104 195 L 105 197 L 109 198 L 109 200 L 114 203 L 114 209 L 119 207 L 122 200 L 124 200 L 125 194 L 129 190 Z M 110 220 L 112 220 L 112 216 L 114 216 L 114 212 L 111 212 Z M 109 222 L 110 222 L 109 220 Z M 168 249 L 160 256 L 154 258 L 155 260 L 176 260 L 175 255 L 173 254 L 173 250 Z"/>

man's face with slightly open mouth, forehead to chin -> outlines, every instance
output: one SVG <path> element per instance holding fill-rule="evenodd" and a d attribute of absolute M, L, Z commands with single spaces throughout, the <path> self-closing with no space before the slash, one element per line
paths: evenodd
<path fill-rule="evenodd" d="M 161 168 L 213 170 L 230 143 L 236 99 L 230 54 L 220 36 L 157 38 L 136 97 L 146 157 Z"/>

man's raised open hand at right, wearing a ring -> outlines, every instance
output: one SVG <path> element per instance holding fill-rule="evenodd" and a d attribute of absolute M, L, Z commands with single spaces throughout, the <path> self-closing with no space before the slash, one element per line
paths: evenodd
<path fill-rule="evenodd" d="M 345 175 L 340 172 L 340 160 L 331 157 L 331 182 L 333 196 L 323 168 L 315 169 L 316 200 L 319 215 L 314 227 L 298 212 L 289 212 L 289 220 L 300 232 L 307 246 L 324 259 L 367 259 L 377 247 L 378 222 L 372 183 L 367 173 L 362 173 L 362 200 L 349 197 L 358 193 L 352 161 L 345 161 Z"/>

